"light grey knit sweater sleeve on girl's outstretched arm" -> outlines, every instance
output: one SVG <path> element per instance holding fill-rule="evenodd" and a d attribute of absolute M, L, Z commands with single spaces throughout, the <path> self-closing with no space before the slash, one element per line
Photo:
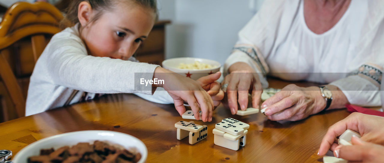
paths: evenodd
<path fill-rule="evenodd" d="M 45 63 L 55 85 L 91 93 L 153 93 L 152 85 L 141 81 L 152 80 L 159 65 L 93 57 L 81 40 L 68 35 L 55 35 L 46 50 L 38 62 Z"/>

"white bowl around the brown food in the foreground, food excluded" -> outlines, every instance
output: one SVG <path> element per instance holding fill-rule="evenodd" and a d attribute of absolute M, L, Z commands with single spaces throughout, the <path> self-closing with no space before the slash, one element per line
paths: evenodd
<path fill-rule="evenodd" d="M 80 142 L 92 143 L 95 140 L 106 141 L 111 145 L 119 145 L 127 150 L 136 149 L 141 154 L 139 163 L 144 163 L 147 159 L 147 147 L 142 141 L 132 135 L 116 131 L 87 130 L 63 133 L 48 138 L 41 139 L 20 150 L 13 158 L 14 163 L 26 163 L 28 157 L 40 155 L 41 149 L 54 148 L 57 150 L 62 146 L 73 146 Z M 136 152 L 137 152 L 136 151 Z"/>

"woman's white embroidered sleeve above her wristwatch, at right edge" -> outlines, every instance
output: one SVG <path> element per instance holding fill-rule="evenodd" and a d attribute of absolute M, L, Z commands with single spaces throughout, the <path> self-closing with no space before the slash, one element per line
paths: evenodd
<path fill-rule="evenodd" d="M 362 38 L 353 48 L 357 53 L 351 61 L 352 70 L 348 77 L 336 80 L 330 85 L 337 86 L 349 103 L 359 106 L 381 106 L 380 85 L 384 70 L 384 12 L 383 1 L 370 1 L 369 18 L 362 29 Z M 381 88 L 384 90 L 384 88 Z"/>

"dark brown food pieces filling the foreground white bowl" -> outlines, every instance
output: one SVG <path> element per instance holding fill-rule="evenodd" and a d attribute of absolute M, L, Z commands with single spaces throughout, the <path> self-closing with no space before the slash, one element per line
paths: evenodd
<path fill-rule="evenodd" d="M 29 157 L 28 163 L 136 163 L 140 158 L 139 152 L 133 153 L 120 146 L 96 140 L 93 144 L 78 143 L 72 147 L 62 146 L 57 150 L 42 149 L 40 155 Z"/>

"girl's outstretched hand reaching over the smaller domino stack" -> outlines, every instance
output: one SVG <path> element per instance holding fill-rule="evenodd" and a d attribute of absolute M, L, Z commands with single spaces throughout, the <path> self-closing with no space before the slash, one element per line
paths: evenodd
<path fill-rule="evenodd" d="M 199 82 L 161 67 L 155 69 L 154 78 L 164 80 L 164 84 L 152 86 L 161 86 L 168 92 L 173 98 L 175 108 L 180 116 L 185 112 L 183 101 L 185 100 L 194 112 L 196 120 L 200 120 L 200 107 L 202 120 L 204 122 L 212 121 L 214 103 L 207 91 L 200 86 Z"/>

